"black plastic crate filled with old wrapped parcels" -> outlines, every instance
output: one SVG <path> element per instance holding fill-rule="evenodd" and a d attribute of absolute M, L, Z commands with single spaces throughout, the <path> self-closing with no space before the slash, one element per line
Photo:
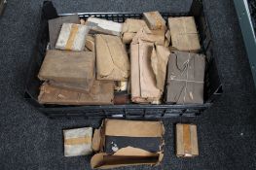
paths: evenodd
<path fill-rule="evenodd" d="M 57 17 L 55 8 L 50 1 L 45 1 L 42 8 L 40 30 L 37 39 L 37 46 L 31 57 L 28 79 L 25 87 L 25 99 L 34 105 L 39 111 L 52 119 L 94 119 L 94 118 L 115 118 L 115 119 L 162 119 L 173 117 L 194 117 L 209 108 L 214 100 L 222 94 L 222 85 L 215 61 L 211 31 L 204 16 L 201 0 L 194 0 L 191 10 L 188 13 L 161 13 L 167 17 L 188 17 L 196 19 L 201 40 L 201 52 L 206 54 L 206 70 L 204 84 L 204 104 L 194 105 L 108 105 L 108 106 L 57 106 L 41 105 L 37 102 L 39 87 L 42 82 L 37 78 L 39 69 L 45 57 L 49 42 L 48 19 Z M 68 16 L 59 15 L 59 16 Z M 142 14 L 130 13 L 82 13 L 81 18 L 100 17 L 117 22 L 124 22 L 126 18 L 141 18 Z"/>

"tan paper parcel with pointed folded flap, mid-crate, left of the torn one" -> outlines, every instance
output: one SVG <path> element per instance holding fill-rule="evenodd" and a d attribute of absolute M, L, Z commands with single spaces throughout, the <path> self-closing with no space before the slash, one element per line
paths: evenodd
<path fill-rule="evenodd" d="M 97 34 L 95 42 L 97 80 L 127 81 L 130 65 L 121 38 Z"/>

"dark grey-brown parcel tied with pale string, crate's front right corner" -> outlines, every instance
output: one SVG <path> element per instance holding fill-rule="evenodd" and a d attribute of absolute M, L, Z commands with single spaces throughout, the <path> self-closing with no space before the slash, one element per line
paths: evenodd
<path fill-rule="evenodd" d="M 166 103 L 203 104 L 205 56 L 172 51 L 168 60 Z"/>

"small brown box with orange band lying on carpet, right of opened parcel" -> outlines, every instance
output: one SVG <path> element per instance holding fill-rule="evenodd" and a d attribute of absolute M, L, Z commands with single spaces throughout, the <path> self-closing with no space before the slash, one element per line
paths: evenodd
<path fill-rule="evenodd" d="M 176 124 L 176 155 L 178 157 L 193 157 L 199 155 L 196 125 Z"/>

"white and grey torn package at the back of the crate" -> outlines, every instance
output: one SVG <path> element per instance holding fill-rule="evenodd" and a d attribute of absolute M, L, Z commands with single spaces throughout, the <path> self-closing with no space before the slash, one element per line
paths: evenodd
<path fill-rule="evenodd" d="M 121 36 L 123 23 L 114 22 L 97 17 L 89 17 L 86 25 L 91 28 L 90 33 Z"/>

